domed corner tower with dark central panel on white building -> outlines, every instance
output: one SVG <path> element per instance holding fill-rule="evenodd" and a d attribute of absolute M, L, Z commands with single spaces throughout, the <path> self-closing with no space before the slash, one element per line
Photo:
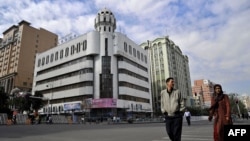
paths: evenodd
<path fill-rule="evenodd" d="M 95 73 L 100 74 L 95 80 L 95 98 L 117 98 L 113 95 L 115 89 L 115 83 L 117 82 L 113 78 L 113 74 L 117 73 L 117 65 L 113 56 L 113 33 L 116 29 L 116 19 L 113 13 L 104 8 L 100 10 L 95 18 L 95 29 L 100 32 L 100 58 L 95 63 Z M 114 89 L 113 89 L 114 88 Z"/>

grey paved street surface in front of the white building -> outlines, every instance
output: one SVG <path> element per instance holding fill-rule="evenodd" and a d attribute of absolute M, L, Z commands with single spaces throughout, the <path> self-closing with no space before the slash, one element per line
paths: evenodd
<path fill-rule="evenodd" d="M 250 124 L 239 120 L 235 124 Z M 1 125 L 1 141 L 169 141 L 164 123 Z M 183 122 L 182 141 L 212 141 L 212 122 Z"/>

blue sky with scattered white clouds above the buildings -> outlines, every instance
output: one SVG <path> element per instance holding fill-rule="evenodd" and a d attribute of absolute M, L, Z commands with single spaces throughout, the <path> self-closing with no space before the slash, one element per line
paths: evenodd
<path fill-rule="evenodd" d="M 138 45 L 169 36 L 189 58 L 191 85 L 208 79 L 250 96 L 249 0 L 0 0 L 0 38 L 21 20 L 59 37 L 85 34 L 103 8 Z"/>

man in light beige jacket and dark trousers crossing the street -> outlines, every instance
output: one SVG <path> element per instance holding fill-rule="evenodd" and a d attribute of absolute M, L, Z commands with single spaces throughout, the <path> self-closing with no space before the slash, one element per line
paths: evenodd
<path fill-rule="evenodd" d="M 171 141 L 181 141 L 184 98 L 174 88 L 174 78 L 166 79 L 166 89 L 161 91 L 161 112 L 165 115 L 166 131 Z"/>

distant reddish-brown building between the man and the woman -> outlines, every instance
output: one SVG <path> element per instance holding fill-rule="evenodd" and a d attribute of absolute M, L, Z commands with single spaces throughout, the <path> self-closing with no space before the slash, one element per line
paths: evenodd
<path fill-rule="evenodd" d="M 192 94 L 196 99 L 196 106 L 209 107 L 211 96 L 214 92 L 214 83 L 207 79 L 195 80 L 192 86 Z"/>

